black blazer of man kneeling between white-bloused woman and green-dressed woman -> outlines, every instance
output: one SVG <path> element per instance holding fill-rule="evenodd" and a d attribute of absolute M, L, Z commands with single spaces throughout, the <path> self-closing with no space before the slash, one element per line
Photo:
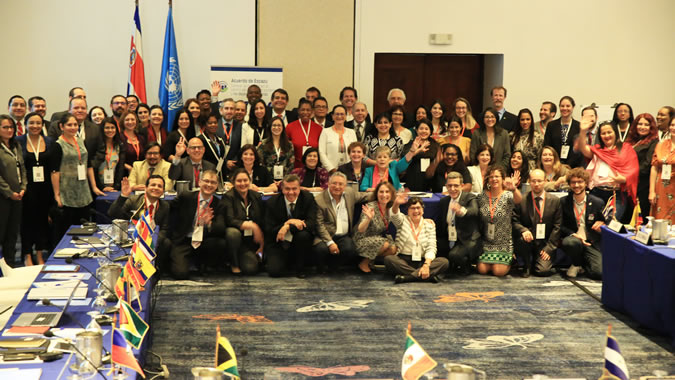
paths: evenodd
<path fill-rule="evenodd" d="M 466 244 L 471 241 L 480 243 L 480 216 L 478 215 L 478 201 L 472 193 L 463 191 L 459 196 L 459 205 L 466 208 L 464 216 L 455 215 L 455 227 L 457 228 L 457 240 Z M 448 240 L 448 209 L 450 208 L 450 196 L 444 197 L 439 202 L 441 208 L 436 221 L 436 239 Z"/>

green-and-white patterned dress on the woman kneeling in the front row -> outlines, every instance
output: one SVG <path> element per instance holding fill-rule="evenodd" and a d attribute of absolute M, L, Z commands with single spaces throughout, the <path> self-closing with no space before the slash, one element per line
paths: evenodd
<path fill-rule="evenodd" d="M 511 217 L 513 215 L 513 193 L 504 191 L 499 199 L 492 198 L 494 207 L 495 236 L 493 240 L 487 238 L 488 223 L 490 223 L 490 201 L 488 192 L 478 197 L 478 209 L 483 224 L 483 254 L 478 262 L 486 264 L 510 265 L 513 259 L 513 240 L 511 238 Z"/>

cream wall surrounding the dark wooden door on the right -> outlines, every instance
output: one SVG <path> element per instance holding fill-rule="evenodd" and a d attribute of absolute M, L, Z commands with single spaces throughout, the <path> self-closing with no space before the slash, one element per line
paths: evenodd
<path fill-rule="evenodd" d="M 504 54 L 511 112 L 571 95 L 655 114 L 675 104 L 673 15 L 672 0 L 356 0 L 354 84 L 372 104 L 378 52 Z"/>

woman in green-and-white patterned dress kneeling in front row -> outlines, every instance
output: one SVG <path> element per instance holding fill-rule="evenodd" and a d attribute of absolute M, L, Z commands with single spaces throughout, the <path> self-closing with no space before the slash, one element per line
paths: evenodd
<path fill-rule="evenodd" d="M 497 277 L 505 276 L 513 260 L 511 217 L 514 204 L 520 203 L 520 191 L 504 169 L 492 166 L 488 169 L 484 191 L 478 197 L 478 209 L 483 221 L 483 254 L 478 258 L 478 273 L 492 272 Z"/>

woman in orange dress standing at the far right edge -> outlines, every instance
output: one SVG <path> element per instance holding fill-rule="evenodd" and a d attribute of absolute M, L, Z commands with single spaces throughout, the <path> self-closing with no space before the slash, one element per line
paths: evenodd
<path fill-rule="evenodd" d="M 654 150 L 649 181 L 649 202 L 652 204 L 652 215 L 656 219 L 667 219 L 675 223 L 675 176 L 672 171 L 675 165 L 675 117 L 670 118 L 668 125 L 669 138 L 658 143 Z M 665 165 L 671 168 L 668 179 L 663 179 Z"/>

